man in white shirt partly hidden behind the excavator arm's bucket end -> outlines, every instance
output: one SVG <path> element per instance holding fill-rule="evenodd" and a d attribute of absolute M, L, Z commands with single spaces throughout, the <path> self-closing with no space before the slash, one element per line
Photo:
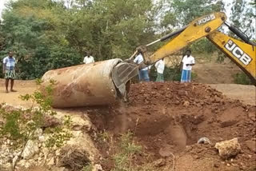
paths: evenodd
<path fill-rule="evenodd" d="M 142 64 L 144 62 L 144 58 L 142 56 L 142 50 L 138 49 L 138 55 L 134 59 L 134 63 L 136 64 Z M 138 71 L 138 79 L 140 82 L 150 82 L 150 76 L 149 76 L 149 67 L 143 68 L 142 70 Z"/>

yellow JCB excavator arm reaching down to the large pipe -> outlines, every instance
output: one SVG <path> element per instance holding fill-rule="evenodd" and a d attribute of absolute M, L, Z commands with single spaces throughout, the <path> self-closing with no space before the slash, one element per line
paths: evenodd
<path fill-rule="evenodd" d="M 218 28 L 222 25 L 226 25 L 241 41 L 236 38 L 230 38 L 230 36 L 218 31 Z M 140 49 L 146 49 L 148 46 L 152 46 L 157 42 L 163 42 L 172 38 L 165 46 L 162 46 L 150 57 L 144 57 L 144 62 L 140 64 L 141 68 L 150 66 L 162 58 L 166 58 L 171 54 L 182 50 L 182 48 L 190 45 L 190 43 L 197 41 L 199 38 L 208 38 L 219 50 L 222 50 L 228 58 L 230 58 L 237 66 L 242 69 L 245 74 L 256 84 L 256 43 L 250 42 L 250 39 L 238 30 L 234 26 L 231 26 L 226 22 L 226 14 L 222 12 L 208 14 L 201 18 L 195 19 L 188 26 L 183 27 L 171 34 L 167 34 L 163 38 L 160 38 L 154 42 L 150 42 L 146 46 L 139 47 Z M 126 60 L 130 62 L 134 56 L 138 54 L 138 50 Z M 126 64 L 119 64 L 120 66 Z M 126 75 L 124 71 L 126 70 Z M 129 80 L 131 67 L 116 67 L 114 68 L 114 82 L 119 83 L 120 80 Z M 128 76 L 128 77 L 127 77 Z M 131 75 L 134 76 L 134 75 Z M 116 81 L 118 80 L 118 81 Z M 117 84 L 116 84 L 117 85 Z M 118 85 L 117 85 L 118 86 Z"/>

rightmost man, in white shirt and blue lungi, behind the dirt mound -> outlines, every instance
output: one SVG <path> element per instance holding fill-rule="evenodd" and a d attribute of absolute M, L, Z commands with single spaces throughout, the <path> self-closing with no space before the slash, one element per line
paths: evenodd
<path fill-rule="evenodd" d="M 191 56 L 191 50 L 186 50 L 186 55 L 182 58 L 181 82 L 191 82 L 191 70 L 194 64 L 194 57 Z"/>

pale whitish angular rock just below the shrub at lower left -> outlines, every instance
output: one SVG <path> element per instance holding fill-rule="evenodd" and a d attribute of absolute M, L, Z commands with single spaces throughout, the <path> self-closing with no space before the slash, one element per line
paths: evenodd
<path fill-rule="evenodd" d="M 36 141 L 27 141 L 25 149 L 22 153 L 22 157 L 24 159 L 30 159 L 31 157 L 34 156 L 35 153 L 38 153 L 39 148 L 38 148 L 38 143 Z"/>

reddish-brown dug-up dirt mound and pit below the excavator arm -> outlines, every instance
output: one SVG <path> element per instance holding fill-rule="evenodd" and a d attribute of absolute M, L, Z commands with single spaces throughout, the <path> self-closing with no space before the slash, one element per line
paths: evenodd
<path fill-rule="evenodd" d="M 216 170 L 222 170 L 227 167 L 226 161 L 220 161 L 213 146 L 234 137 L 242 145 L 242 154 L 232 161 L 234 165 L 228 163 L 229 167 L 254 166 L 256 155 L 246 142 L 255 144 L 255 110 L 255 106 L 231 101 L 208 85 L 149 82 L 132 85 L 129 102 L 108 109 L 88 109 L 87 113 L 99 131 L 114 136 L 128 129 L 133 131 L 135 140 L 152 161 L 169 157 L 170 153 L 181 161 L 184 157 L 199 161 L 210 157 L 218 163 L 204 165 L 218 165 Z M 198 145 L 200 137 L 208 137 L 211 145 Z M 191 169 L 191 165 L 184 167 L 177 166 L 177 170 L 201 170 Z"/>

